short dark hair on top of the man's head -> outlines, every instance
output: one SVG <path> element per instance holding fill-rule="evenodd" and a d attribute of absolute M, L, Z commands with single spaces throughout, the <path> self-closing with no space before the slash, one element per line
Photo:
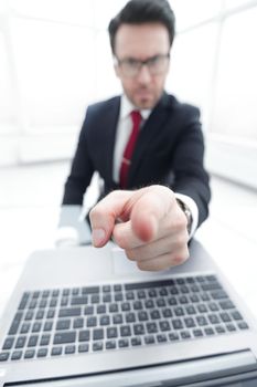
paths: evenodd
<path fill-rule="evenodd" d="M 161 23 L 167 28 L 171 46 L 175 34 L 175 17 L 168 0 L 130 0 L 109 22 L 108 31 L 113 53 L 115 53 L 115 36 L 121 24 L 148 22 Z"/>

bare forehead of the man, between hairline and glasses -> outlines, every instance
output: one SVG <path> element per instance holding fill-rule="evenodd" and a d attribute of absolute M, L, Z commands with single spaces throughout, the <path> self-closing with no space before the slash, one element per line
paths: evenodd
<path fill-rule="evenodd" d="M 169 50 L 169 33 L 161 23 L 121 24 L 116 33 L 115 52 L 120 59 L 143 60 Z"/>

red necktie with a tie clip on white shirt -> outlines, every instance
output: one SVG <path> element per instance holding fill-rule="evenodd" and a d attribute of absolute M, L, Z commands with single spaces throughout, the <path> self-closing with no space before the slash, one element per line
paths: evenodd
<path fill-rule="evenodd" d="M 140 128 L 140 123 L 142 118 L 140 112 L 138 111 L 132 111 L 130 113 L 130 116 L 132 119 L 132 132 L 127 143 L 127 146 L 125 148 L 120 171 L 119 171 L 119 182 L 122 189 L 127 187 L 128 171 L 131 164 L 132 153 L 139 135 L 139 128 Z"/>

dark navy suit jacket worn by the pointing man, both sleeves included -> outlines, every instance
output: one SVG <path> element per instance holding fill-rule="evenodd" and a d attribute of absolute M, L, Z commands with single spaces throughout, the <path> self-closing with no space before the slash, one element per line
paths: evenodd
<path fill-rule="evenodd" d="M 113 155 L 120 97 L 94 104 L 81 130 L 63 205 L 82 205 L 94 171 L 104 179 L 103 196 L 119 189 L 113 179 Z M 199 226 L 207 217 L 208 175 L 203 167 L 204 144 L 196 107 L 163 96 L 140 130 L 132 156 L 128 189 L 152 184 L 188 195 L 199 208 Z"/>

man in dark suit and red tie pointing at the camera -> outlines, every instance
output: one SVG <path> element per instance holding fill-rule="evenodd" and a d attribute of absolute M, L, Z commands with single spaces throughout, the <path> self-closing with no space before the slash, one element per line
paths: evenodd
<path fill-rule="evenodd" d="M 174 14 L 167 0 L 131 0 L 110 21 L 121 96 L 88 106 L 63 205 L 82 205 L 94 171 L 93 244 L 110 238 L 141 270 L 183 263 L 211 197 L 196 107 L 164 91 Z"/>

